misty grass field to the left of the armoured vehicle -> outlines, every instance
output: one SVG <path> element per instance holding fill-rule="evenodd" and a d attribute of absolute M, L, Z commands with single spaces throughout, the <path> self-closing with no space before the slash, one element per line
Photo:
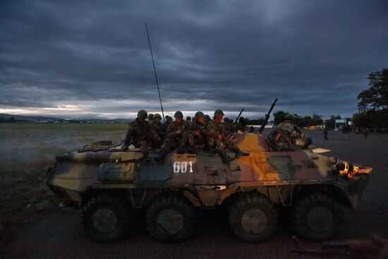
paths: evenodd
<path fill-rule="evenodd" d="M 23 222 L 55 198 L 44 183 L 55 156 L 99 140 L 120 143 L 126 124 L 0 124 L 0 219 Z"/>

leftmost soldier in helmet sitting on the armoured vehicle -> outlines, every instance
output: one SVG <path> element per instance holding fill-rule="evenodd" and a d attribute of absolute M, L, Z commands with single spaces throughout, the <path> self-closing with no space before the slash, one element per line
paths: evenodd
<path fill-rule="evenodd" d="M 138 118 L 129 124 L 123 150 L 127 150 L 128 145 L 133 143 L 135 147 L 140 147 L 140 150 L 144 154 L 144 159 L 147 162 L 150 161 L 150 156 L 148 155 L 147 150 L 147 140 L 152 139 L 157 143 L 160 143 L 161 140 L 159 135 L 157 135 L 157 133 L 153 130 L 150 123 L 145 119 L 147 119 L 147 112 L 145 112 L 143 109 L 140 109 L 138 112 Z"/>

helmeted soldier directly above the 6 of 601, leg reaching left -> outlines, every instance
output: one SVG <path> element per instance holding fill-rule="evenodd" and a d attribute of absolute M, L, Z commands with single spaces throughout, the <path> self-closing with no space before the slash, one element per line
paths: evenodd
<path fill-rule="evenodd" d="M 164 162 L 166 154 L 181 145 L 181 137 L 185 128 L 182 112 L 176 112 L 174 118 L 175 121 L 171 122 L 167 127 L 166 139 L 163 141 L 162 147 L 160 148 L 160 155 L 155 158 L 155 161 L 157 162 Z"/>

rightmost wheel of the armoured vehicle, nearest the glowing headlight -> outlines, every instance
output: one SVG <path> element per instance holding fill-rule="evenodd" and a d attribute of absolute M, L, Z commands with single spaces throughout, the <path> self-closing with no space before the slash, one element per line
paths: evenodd
<path fill-rule="evenodd" d="M 296 233 L 313 241 L 322 241 L 334 236 L 343 217 L 341 206 L 324 193 L 313 193 L 299 200 L 291 214 Z"/>

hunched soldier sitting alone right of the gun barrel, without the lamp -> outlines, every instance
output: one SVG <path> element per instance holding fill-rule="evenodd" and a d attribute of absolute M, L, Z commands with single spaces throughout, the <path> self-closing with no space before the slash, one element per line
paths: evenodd
<path fill-rule="evenodd" d="M 267 141 L 274 150 L 296 150 L 294 145 L 297 138 L 303 138 L 298 128 L 293 126 L 293 115 L 287 114 L 284 121 L 278 124 L 267 135 Z"/>

